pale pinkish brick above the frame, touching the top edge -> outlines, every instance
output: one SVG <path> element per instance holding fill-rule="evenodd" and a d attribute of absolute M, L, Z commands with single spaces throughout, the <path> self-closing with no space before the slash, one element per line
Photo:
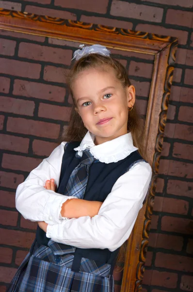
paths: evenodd
<path fill-rule="evenodd" d="M 113 0 L 110 13 L 113 16 L 161 22 L 163 8 Z"/>

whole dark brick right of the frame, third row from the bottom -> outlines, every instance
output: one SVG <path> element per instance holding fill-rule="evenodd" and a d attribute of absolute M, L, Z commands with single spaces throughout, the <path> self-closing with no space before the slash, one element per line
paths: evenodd
<path fill-rule="evenodd" d="M 167 234 L 150 233 L 148 245 L 154 248 L 164 248 L 167 250 L 174 250 L 180 252 L 183 247 L 183 237 Z"/>

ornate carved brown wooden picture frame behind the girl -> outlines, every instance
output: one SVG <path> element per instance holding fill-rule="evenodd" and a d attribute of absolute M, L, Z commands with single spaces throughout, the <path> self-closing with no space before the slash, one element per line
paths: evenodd
<path fill-rule="evenodd" d="M 153 177 L 147 201 L 128 240 L 121 286 L 121 292 L 141 291 L 177 38 L 5 9 L 0 9 L 0 28 L 155 56 L 145 120 Z"/>

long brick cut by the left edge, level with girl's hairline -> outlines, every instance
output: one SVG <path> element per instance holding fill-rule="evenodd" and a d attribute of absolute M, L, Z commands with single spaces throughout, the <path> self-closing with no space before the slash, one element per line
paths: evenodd
<path fill-rule="evenodd" d="M 38 79 L 40 70 L 40 64 L 0 58 L 0 73 L 3 74 Z"/>

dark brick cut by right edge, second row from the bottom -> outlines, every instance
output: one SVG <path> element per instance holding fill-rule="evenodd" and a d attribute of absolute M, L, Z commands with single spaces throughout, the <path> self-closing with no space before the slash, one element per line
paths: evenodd
<path fill-rule="evenodd" d="M 155 266 L 183 272 L 193 272 L 193 258 L 156 253 Z"/>

